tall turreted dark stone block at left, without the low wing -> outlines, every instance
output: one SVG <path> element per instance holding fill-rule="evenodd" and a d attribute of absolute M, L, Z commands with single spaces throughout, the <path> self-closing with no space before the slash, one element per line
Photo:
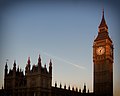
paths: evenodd
<path fill-rule="evenodd" d="M 39 55 L 38 64 L 31 69 L 30 57 L 25 67 L 25 75 L 21 69 L 16 69 L 14 61 L 13 69 L 8 72 L 5 65 L 4 89 L 12 96 L 51 96 L 52 62 L 49 62 L 49 71 L 46 65 L 42 67 Z"/>

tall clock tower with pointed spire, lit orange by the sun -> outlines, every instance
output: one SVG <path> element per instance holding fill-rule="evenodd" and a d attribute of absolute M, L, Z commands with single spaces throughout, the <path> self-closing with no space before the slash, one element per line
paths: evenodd
<path fill-rule="evenodd" d="M 95 96 L 113 96 L 113 43 L 109 37 L 104 10 L 93 43 L 93 63 Z"/>

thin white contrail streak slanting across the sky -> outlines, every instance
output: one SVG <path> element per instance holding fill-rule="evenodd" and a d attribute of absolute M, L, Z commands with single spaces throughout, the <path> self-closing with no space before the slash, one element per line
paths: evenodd
<path fill-rule="evenodd" d="M 72 66 L 74 66 L 74 67 L 77 67 L 77 68 L 80 68 L 80 69 L 86 69 L 84 66 L 80 66 L 80 65 L 71 63 L 71 62 L 69 62 L 69 61 L 67 61 L 67 60 L 65 60 L 65 59 L 59 58 L 59 57 L 57 57 L 57 56 L 52 56 L 52 55 L 50 55 L 50 54 L 48 54 L 48 53 L 46 53 L 46 52 L 43 52 L 43 54 L 46 55 L 46 56 L 48 56 L 48 57 L 52 57 L 52 58 L 54 58 L 54 59 L 57 59 L 57 60 L 59 60 L 59 61 L 63 61 L 63 62 L 65 62 L 65 63 L 67 63 L 67 64 L 70 64 L 70 65 L 72 65 Z"/>

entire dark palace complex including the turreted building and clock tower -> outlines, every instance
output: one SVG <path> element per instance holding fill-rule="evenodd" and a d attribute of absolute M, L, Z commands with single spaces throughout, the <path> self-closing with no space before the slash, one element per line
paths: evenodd
<path fill-rule="evenodd" d="M 38 63 L 31 68 L 28 58 L 25 72 L 16 68 L 8 71 L 6 63 L 4 69 L 4 88 L 0 90 L 0 96 L 113 96 L 113 43 L 108 33 L 108 26 L 104 18 L 98 27 L 98 35 L 93 42 L 93 92 L 86 90 L 86 85 L 81 89 L 62 88 L 52 86 L 52 61 L 49 62 L 49 70 L 46 65 Z M 24 74 L 25 73 L 25 74 Z"/>

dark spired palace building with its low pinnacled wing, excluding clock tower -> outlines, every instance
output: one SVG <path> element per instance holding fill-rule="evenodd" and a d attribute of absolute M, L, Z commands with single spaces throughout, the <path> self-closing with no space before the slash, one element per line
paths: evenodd
<path fill-rule="evenodd" d="M 38 63 L 31 68 L 30 57 L 28 58 L 25 74 L 21 69 L 16 68 L 16 61 L 13 68 L 8 72 L 8 64 L 5 65 L 4 92 L 7 96 L 93 96 L 84 85 L 83 90 L 76 88 L 62 88 L 62 85 L 52 86 L 52 61 L 49 62 L 49 70 L 46 65 L 42 67 L 39 55 Z"/>

